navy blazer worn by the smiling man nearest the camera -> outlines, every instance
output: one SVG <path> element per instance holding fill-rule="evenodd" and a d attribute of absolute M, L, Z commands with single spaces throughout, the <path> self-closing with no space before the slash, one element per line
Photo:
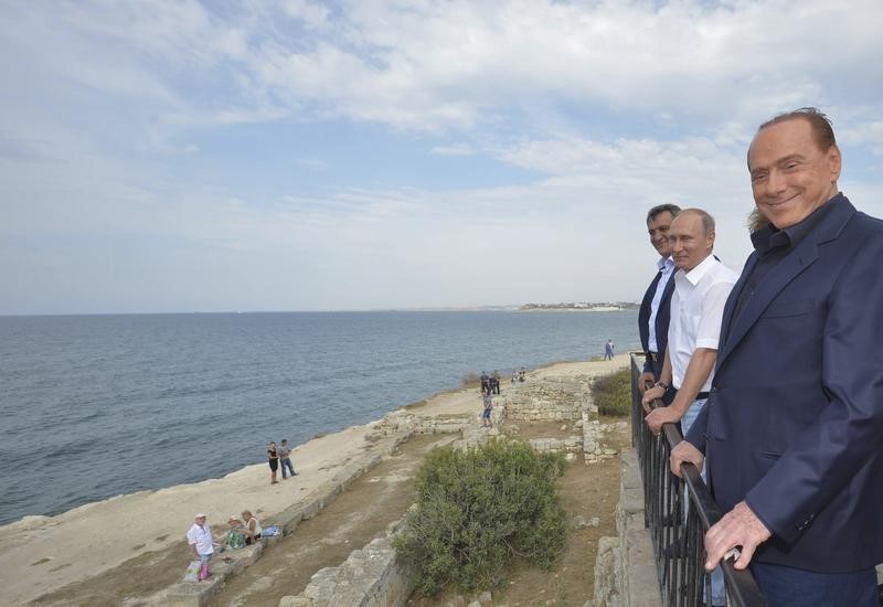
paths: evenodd
<path fill-rule="evenodd" d="M 883 562 L 883 222 L 836 205 L 733 311 L 688 435 L 715 500 L 774 533 L 755 558 L 823 573 Z"/>

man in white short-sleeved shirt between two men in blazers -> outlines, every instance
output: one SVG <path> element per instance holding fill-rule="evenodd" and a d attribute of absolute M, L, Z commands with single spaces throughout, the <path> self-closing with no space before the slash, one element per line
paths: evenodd
<path fill-rule="evenodd" d="M 678 394 L 671 405 L 652 411 L 645 422 L 659 433 L 662 424 L 683 418 L 687 433 L 709 397 L 724 303 L 737 276 L 712 254 L 714 220 L 701 209 L 681 211 L 671 223 L 669 243 L 679 268 L 671 297 L 669 343 L 659 382 L 645 392 L 642 403 L 649 408 L 673 386 Z"/>

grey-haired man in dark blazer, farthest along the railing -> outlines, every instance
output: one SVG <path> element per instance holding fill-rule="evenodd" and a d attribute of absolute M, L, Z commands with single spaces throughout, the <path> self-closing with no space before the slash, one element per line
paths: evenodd
<path fill-rule="evenodd" d="M 671 278 L 678 269 L 671 258 L 669 228 L 680 212 L 681 207 L 675 204 L 660 204 L 647 213 L 647 232 L 650 234 L 650 244 L 659 253 L 659 259 L 656 263 L 657 275 L 643 294 L 638 312 L 638 333 L 645 355 L 643 373 L 638 377 L 641 393 L 648 381 L 652 384 L 659 380 L 666 358 L 671 318 L 669 308 L 671 294 L 674 292 L 674 280 Z"/>

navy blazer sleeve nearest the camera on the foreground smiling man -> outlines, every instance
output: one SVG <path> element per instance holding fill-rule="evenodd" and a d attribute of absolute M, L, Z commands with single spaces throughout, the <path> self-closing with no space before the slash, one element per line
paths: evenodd
<path fill-rule="evenodd" d="M 844 264 L 827 294 L 820 354 L 821 388 L 829 404 L 794 437 L 789 448 L 746 496 L 755 514 L 789 543 L 881 449 L 881 231 L 857 243 L 850 249 L 854 257 Z M 693 437 L 692 429 L 690 434 Z"/>

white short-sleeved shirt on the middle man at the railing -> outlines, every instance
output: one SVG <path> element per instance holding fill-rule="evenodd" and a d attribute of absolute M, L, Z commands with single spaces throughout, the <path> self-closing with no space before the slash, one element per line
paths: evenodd
<path fill-rule="evenodd" d="M 705 257 L 696 267 L 674 275 L 674 292 L 671 294 L 671 323 L 669 324 L 669 359 L 671 360 L 671 384 L 680 388 L 687 366 L 696 348 L 717 350 L 721 338 L 721 321 L 724 305 L 738 277 L 714 258 Z M 702 384 L 700 392 L 708 392 L 714 371 Z"/>

